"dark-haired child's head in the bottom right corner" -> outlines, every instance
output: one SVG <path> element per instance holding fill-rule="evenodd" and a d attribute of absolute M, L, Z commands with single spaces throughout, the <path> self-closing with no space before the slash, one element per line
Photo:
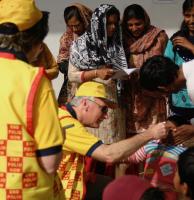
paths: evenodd
<path fill-rule="evenodd" d="M 180 193 L 181 199 L 194 199 L 194 147 L 179 155 L 174 187 Z"/>

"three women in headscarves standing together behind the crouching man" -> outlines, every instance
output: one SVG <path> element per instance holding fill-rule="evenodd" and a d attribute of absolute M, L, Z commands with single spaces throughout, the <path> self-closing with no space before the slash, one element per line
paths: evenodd
<path fill-rule="evenodd" d="M 59 104 L 66 103 L 84 81 L 106 83 L 109 98 L 116 100 L 119 108 L 110 111 L 94 134 L 107 144 L 164 121 L 165 98 L 142 91 L 135 75 L 130 80 L 111 79 L 115 67 L 140 68 L 147 58 L 164 53 L 168 36 L 151 25 L 146 11 L 140 5 L 128 6 L 120 26 L 120 13 L 114 6 L 102 5 L 91 15 L 89 8 L 75 4 L 65 9 L 64 18 L 67 31 L 61 38 L 58 63 L 69 84 L 64 82 Z M 68 86 L 66 90 L 64 86 Z"/>

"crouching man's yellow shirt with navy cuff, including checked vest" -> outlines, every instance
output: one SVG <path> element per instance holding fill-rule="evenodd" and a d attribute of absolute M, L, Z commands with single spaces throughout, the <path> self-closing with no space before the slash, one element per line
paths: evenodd
<path fill-rule="evenodd" d="M 85 156 L 91 156 L 102 141 L 89 133 L 76 119 L 76 114 L 70 105 L 59 109 L 59 119 L 62 128 L 67 128 L 63 144 L 63 159 L 58 169 L 65 199 L 84 199 Z"/>

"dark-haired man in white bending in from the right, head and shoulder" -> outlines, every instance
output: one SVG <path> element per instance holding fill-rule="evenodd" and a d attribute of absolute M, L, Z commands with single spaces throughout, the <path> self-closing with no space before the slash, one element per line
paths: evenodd
<path fill-rule="evenodd" d="M 178 92 L 186 86 L 194 103 L 193 64 L 194 60 L 191 60 L 179 67 L 170 58 L 153 56 L 140 69 L 140 84 L 144 89 L 158 91 L 161 95 Z"/>

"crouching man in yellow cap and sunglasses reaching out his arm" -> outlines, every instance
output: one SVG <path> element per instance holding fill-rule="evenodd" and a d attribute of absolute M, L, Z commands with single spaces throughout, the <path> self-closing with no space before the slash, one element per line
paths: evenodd
<path fill-rule="evenodd" d="M 83 83 L 72 101 L 59 108 L 60 123 L 66 130 L 63 158 L 58 168 L 65 199 L 99 200 L 103 188 L 110 182 L 107 177 L 97 174 L 92 181 L 86 180 L 85 156 L 114 163 L 129 156 L 148 141 L 166 137 L 168 128 L 165 123 L 159 123 L 132 138 L 110 145 L 103 144 L 85 127 L 98 128 L 108 117 L 108 108 L 115 107 L 116 104 L 107 99 L 104 85 L 91 81 Z"/>

